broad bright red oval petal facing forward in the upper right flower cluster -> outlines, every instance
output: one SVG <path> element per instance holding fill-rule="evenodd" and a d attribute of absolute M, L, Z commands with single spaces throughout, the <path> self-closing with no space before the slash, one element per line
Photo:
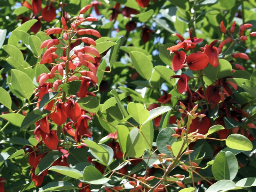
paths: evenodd
<path fill-rule="evenodd" d="M 187 64 L 190 70 L 196 71 L 207 67 L 209 58 L 205 53 L 197 52 L 188 55 Z"/>

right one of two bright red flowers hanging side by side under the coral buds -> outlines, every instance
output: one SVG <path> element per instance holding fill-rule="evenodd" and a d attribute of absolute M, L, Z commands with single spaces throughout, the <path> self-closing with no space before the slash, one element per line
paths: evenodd
<path fill-rule="evenodd" d="M 81 108 L 77 102 L 73 99 L 68 100 L 68 105 L 66 106 L 66 113 L 68 118 L 73 121 L 76 121 L 81 116 Z"/>

